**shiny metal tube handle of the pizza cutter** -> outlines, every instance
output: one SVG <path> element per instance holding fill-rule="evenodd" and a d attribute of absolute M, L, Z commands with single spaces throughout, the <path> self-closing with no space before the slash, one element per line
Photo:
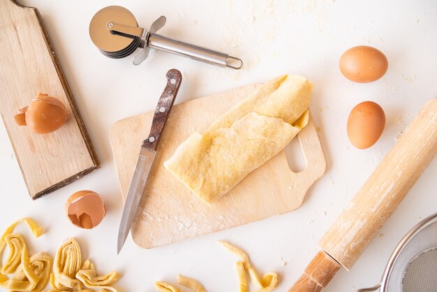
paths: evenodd
<path fill-rule="evenodd" d="M 243 61 L 239 58 L 232 57 L 223 52 L 217 52 L 208 48 L 184 43 L 172 38 L 167 38 L 159 34 L 150 34 L 147 42 L 150 48 L 170 52 L 172 54 L 179 54 L 180 56 L 202 61 L 208 64 L 214 64 L 220 67 L 230 67 L 234 69 L 242 68 Z"/>

